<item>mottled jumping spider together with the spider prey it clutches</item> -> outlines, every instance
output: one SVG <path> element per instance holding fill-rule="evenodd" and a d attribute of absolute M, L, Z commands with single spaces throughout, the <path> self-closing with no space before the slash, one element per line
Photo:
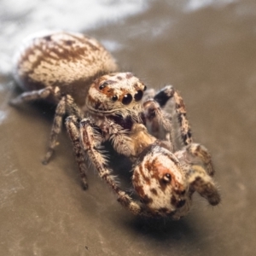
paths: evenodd
<path fill-rule="evenodd" d="M 211 156 L 206 148 L 192 143 L 183 100 L 172 86 L 157 94 L 144 92 L 146 86 L 140 79 L 132 73 L 113 73 L 116 65 L 108 51 L 79 34 L 58 32 L 31 42 L 16 58 L 15 78 L 32 91 L 13 103 L 35 99 L 57 103 L 44 163 L 53 153 L 61 120 L 68 114 L 67 132 L 84 188 L 88 156 L 118 201 L 134 214 L 183 217 L 195 191 L 213 206 L 218 204 Z M 172 108 L 166 112 L 170 102 Z M 180 144 L 176 137 L 181 137 Z M 114 180 L 102 152 L 105 141 L 133 161 L 132 183 L 142 203 L 132 200 Z"/>

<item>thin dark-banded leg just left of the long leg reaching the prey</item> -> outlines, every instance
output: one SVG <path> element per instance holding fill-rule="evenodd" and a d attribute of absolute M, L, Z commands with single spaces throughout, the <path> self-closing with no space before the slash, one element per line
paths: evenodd
<path fill-rule="evenodd" d="M 76 161 L 79 165 L 79 173 L 82 179 L 83 188 L 88 188 L 87 177 L 86 177 L 86 165 L 83 148 L 80 144 L 79 137 L 79 119 L 76 116 L 69 116 L 66 119 L 67 133 L 73 143 L 73 151 L 75 154 Z"/>

